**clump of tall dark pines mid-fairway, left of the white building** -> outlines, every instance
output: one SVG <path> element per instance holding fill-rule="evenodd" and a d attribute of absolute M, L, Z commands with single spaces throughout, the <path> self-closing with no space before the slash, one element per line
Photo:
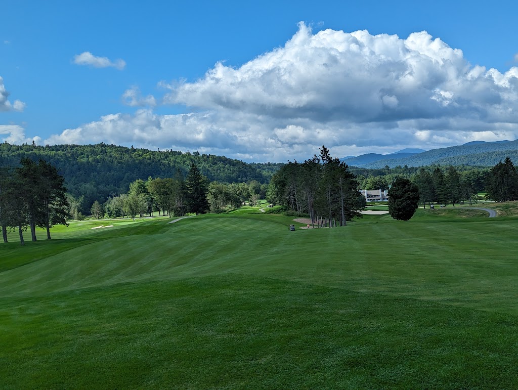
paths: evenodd
<path fill-rule="evenodd" d="M 309 214 L 319 226 L 345 226 L 365 207 L 356 175 L 322 146 L 304 163 L 288 162 L 271 178 L 266 199 L 293 213 Z M 337 223 L 338 221 L 338 223 Z"/>

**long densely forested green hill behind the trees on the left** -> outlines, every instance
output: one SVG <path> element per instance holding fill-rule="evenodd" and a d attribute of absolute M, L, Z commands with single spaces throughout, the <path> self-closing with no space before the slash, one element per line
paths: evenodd
<path fill-rule="evenodd" d="M 85 202 L 105 201 L 110 194 L 128 191 L 137 179 L 174 177 L 177 169 L 185 175 L 192 161 L 211 181 L 268 182 L 283 164 L 247 164 L 224 156 L 152 151 L 115 145 L 31 146 L 0 144 L 0 166 L 18 166 L 22 157 L 54 165 L 65 178 L 68 192 L 84 195 Z"/>

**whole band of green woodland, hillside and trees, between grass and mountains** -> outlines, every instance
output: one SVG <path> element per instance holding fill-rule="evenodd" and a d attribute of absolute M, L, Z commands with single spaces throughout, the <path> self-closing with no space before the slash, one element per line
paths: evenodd
<path fill-rule="evenodd" d="M 20 235 L 29 228 L 35 238 L 34 229 L 39 226 L 47 229 L 50 239 L 53 224 L 66 224 L 86 215 L 99 219 L 135 218 L 153 212 L 169 216 L 219 213 L 246 204 L 255 206 L 260 199 L 281 206 L 269 212 L 304 215 L 312 223 L 343 226 L 361 216 L 358 211 L 364 208 L 365 199 L 359 190 L 388 190 L 397 178 L 409 179 L 419 187 L 420 204 L 425 208 L 434 202 L 455 206 L 475 201 L 479 192 L 497 201 L 518 199 L 518 175 L 509 157 L 491 168 L 432 165 L 368 169 L 349 167 L 330 156 L 325 146 L 304 163 L 286 164 L 246 164 L 196 152 L 139 151 L 102 144 L 38 147 L 4 143 L 0 147 L 4 238 L 9 228 Z M 93 152 L 97 154 L 90 154 Z M 166 162 L 156 153 L 163 153 Z M 23 157 L 13 163 L 19 155 Z M 156 168 L 153 175 L 129 181 L 148 174 L 150 167 Z"/>

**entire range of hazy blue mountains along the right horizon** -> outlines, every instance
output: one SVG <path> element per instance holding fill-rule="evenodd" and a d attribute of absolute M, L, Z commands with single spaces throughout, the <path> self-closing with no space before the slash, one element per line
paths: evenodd
<path fill-rule="evenodd" d="M 518 140 L 515 141 L 471 141 L 449 148 L 403 149 L 391 154 L 367 153 L 356 157 L 344 157 L 341 161 L 350 166 L 383 168 L 385 166 L 419 167 L 423 165 L 477 165 L 493 166 L 509 156 L 518 162 Z"/>

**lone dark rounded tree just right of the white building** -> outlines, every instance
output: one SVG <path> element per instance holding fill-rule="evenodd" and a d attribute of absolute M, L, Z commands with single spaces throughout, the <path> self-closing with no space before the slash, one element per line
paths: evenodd
<path fill-rule="evenodd" d="M 398 178 L 389 190 L 389 214 L 408 221 L 419 207 L 419 188 L 410 180 Z"/>

